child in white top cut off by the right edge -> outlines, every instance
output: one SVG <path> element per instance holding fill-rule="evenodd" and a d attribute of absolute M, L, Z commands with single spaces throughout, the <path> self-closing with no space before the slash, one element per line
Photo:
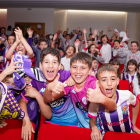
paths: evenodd
<path fill-rule="evenodd" d="M 133 93 L 140 99 L 140 63 L 137 66 L 137 76 L 133 80 Z"/>

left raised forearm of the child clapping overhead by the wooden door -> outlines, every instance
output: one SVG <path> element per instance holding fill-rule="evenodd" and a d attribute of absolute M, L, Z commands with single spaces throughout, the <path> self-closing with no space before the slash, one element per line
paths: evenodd
<path fill-rule="evenodd" d="M 17 45 L 20 43 L 20 40 L 18 38 L 18 36 L 16 35 L 16 41 L 14 42 L 14 44 L 9 48 L 9 50 L 7 51 L 7 53 L 5 54 L 6 59 L 11 59 L 12 55 L 17 47 Z"/>

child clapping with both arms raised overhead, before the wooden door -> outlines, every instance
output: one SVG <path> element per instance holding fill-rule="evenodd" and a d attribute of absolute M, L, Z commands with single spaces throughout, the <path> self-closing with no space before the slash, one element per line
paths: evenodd
<path fill-rule="evenodd" d="M 6 58 L 11 59 L 14 51 L 17 53 L 26 56 L 26 51 L 28 53 L 29 58 L 33 57 L 33 51 L 30 45 L 27 43 L 27 41 L 24 39 L 22 31 L 18 27 L 18 29 L 15 29 L 16 34 L 16 41 L 14 44 L 10 47 L 10 49 L 6 53 Z M 26 56 L 26 57 L 28 57 Z"/>

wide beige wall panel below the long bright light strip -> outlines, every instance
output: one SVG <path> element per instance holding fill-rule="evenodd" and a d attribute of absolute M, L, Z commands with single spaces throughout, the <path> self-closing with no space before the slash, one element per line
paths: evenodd
<path fill-rule="evenodd" d="M 92 12 L 92 11 L 69 11 L 67 12 L 67 25 L 70 30 L 77 28 L 78 26 L 83 29 L 87 28 L 89 33 L 89 28 L 92 30 L 95 28 L 97 30 L 103 30 L 106 34 L 108 26 L 112 26 L 111 32 L 109 32 L 109 37 L 112 36 L 114 29 L 118 31 L 124 31 L 126 29 L 126 19 L 127 13 L 122 12 Z"/>

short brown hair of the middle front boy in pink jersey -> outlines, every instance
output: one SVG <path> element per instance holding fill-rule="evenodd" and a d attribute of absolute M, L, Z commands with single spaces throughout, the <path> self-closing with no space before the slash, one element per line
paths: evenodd
<path fill-rule="evenodd" d="M 73 55 L 70 60 L 70 65 L 72 65 L 73 62 L 77 62 L 77 61 L 88 64 L 89 69 L 92 66 L 92 58 L 87 53 L 79 52 Z"/>

